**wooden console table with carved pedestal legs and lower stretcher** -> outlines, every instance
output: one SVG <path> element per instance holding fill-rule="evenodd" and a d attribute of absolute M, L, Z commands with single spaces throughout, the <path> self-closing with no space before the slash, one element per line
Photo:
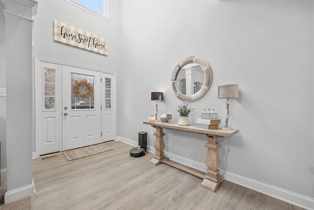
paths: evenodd
<path fill-rule="evenodd" d="M 173 166 L 196 177 L 202 178 L 203 181 L 201 185 L 204 188 L 209 189 L 213 192 L 217 189 L 219 184 L 224 180 L 224 178 L 220 176 L 219 174 L 220 170 L 218 169 L 220 165 L 218 149 L 221 147 L 221 145 L 218 143 L 218 138 L 234 136 L 236 133 L 238 133 L 238 130 L 225 130 L 225 129 L 209 130 L 198 128 L 195 127 L 194 125 L 178 125 L 177 122 L 168 123 L 157 121 L 143 123 L 151 125 L 152 127 L 156 128 L 156 132 L 154 133 L 154 135 L 156 136 L 154 145 L 156 151 L 154 157 L 150 160 L 150 163 L 152 163 L 153 165 L 158 165 L 159 163 L 162 162 L 167 165 Z M 180 163 L 171 161 L 169 160 L 168 157 L 166 157 L 163 154 L 164 153 L 163 150 L 165 149 L 165 143 L 163 141 L 163 136 L 165 135 L 165 133 L 163 132 L 163 128 L 190 133 L 204 134 L 208 137 L 208 143 L 205 145 L 205 147 L 208 148 L 207 157 L 205 161 L 205 164 L 208 167 L 206 173 L 184 166 Z"/>

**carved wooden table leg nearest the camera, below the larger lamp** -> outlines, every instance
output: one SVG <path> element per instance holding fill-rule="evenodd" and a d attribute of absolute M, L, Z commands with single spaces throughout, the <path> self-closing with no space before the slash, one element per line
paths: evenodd
<path fill-rule="evenodd" d="M 209 189 L 210 191 L 215 191 L 219 184 L 224 180 L 219 174 L 219 148 L 221 145 L 218 143 L 217 136 L 208 136 L 208 143 L 205 145 L 208 148 L 206 157 L 206 170 L 205 179 L 202 182 L 202 187 Z"/>

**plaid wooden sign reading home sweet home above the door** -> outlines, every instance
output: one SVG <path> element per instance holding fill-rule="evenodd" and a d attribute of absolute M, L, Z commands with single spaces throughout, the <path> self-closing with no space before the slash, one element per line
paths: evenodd
<path fill-rule="evenodd" d="M 108 54 L 107 39 L 58 20 L 54 20 L 53 25 L 55 41 L 103 55 Z"/>

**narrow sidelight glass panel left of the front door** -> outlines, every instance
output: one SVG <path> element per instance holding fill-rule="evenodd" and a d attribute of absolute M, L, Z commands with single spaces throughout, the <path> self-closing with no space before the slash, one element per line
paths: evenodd
<path fill-rule="evenodd" d="M 55 69 L 44 68 L 44 75 L 45 75 L 44 107 L 45 109 L 55 109 L 54 108 Z"/>

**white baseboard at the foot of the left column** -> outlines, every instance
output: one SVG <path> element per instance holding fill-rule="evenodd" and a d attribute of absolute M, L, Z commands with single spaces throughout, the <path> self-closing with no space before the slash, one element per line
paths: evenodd
<path fill-rule="evenodd" d="M 34 194 L 35 194 L 35 185 L 34 185 L 34 180 L 33 180 L 33 183 L 30 185 L 26 185 L 24 187 L 20 187 L 20 188 L 5 192 L 4 204 L 9 204 L 9 203 L 18 201 L 20 199 L 26 198 Z"/>

